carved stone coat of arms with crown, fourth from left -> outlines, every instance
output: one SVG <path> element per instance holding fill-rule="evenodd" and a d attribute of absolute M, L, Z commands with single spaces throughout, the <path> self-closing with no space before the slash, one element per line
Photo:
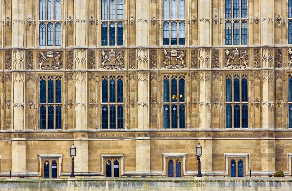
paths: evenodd
<path fill-rule="evenodd" d="M 229 53 L 229 51 L 225 50 L 225 67 L 229 69 L 242 69 L 248 67 L 248 55 L 247 51 L 244 49 L 244 51 L 241 54 L 241 57 L 239 57 L 240 51 L 235 48 L 233 50 L 233 56 Z M 238 61 L 237 61 L 238 60 Z M 241 60 L 241 62 L 240 62 Z"/>

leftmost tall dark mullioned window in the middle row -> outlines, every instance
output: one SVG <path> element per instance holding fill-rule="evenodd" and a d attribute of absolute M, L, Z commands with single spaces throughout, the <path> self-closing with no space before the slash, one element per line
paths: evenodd
<path fill-rule="evenodd" d="M 62 129 L 62 82 L 60 76 L 40 77 L 40 129 Z"/>

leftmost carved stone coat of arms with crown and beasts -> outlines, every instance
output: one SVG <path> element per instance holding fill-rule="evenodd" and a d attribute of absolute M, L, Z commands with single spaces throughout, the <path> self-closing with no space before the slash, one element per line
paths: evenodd
<path fill-rule="evenodd" d="M 49 50 L 47 52 L 47 59 L 43 52 L 40 52 L 39 56 L 39 69 L 40 70 L 59 70 L 62 68 L 61 52 L 55 53 L 55 58 L 53 58 L 54 53 Z"/>

